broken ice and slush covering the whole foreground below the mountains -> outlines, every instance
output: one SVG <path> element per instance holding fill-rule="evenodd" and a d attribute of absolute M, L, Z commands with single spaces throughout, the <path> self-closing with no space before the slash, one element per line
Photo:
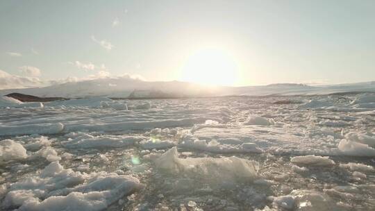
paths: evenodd
<path fill-rule="evenodd" d="M 0 210 L 374 210 L 374 105 L 3 98 Z"/>

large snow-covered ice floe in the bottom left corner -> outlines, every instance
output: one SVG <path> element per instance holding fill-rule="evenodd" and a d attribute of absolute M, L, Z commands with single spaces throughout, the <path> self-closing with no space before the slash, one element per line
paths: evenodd
<path fill-rule="evenodd" d="M 104 210 L 142 188 L 137 178 L 106 172 L 81 174 L 51 162 L 39 176 L 10 185 L 3 208 L 18 210 Z"/>

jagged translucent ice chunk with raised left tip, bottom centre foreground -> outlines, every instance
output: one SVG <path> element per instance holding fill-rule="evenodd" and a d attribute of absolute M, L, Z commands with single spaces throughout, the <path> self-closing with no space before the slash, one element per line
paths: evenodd
<path fill-rule="evenodd" d="M 169 149 L 156 160 L 158 169 L 171 174 L 199 177 L 210 183 L 243 180 L 253 181 L 258 177 L 258 163 L 237 157 L 229 158 L 178 158 L 176 147 Z"/>

